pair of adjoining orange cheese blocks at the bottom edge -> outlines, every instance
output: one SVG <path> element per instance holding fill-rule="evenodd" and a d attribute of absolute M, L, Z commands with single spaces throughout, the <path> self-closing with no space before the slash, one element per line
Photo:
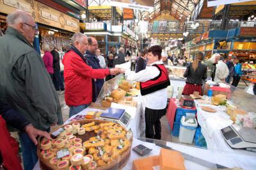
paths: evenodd
<path fill-rule="evenodd" d="M 179 151 L 162 148 L 160 155 L 134 160 L 132 170 L 151 170 L 154 166 L 160 166 L 161 170 L 185 170 L 184 157 Z"/>

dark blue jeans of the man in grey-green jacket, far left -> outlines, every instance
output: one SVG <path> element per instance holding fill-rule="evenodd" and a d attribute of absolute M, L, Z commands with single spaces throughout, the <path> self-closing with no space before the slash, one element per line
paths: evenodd
<path fill-rule="evenodd" d="M 36 145 L 31 141 L 25 132 L 19 133 L 23 164 L 25 170 L 32 170 L 38 157 L 36 155 Z"/>

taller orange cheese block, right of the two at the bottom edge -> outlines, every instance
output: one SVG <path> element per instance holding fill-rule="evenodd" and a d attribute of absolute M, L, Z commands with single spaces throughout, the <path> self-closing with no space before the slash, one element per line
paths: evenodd
<path fill-rule="evenodd" d="M 179 151 L 162 148 L 159 155 L 159 164 L 161 170 L 185 170 L 184 157 Z"/>

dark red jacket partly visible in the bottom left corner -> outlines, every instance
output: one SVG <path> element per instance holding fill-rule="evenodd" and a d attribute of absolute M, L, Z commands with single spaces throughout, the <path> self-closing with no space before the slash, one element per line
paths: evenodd
<path fill-rule="evenodd" d="M 0 151 L 3 157 L 3 166 L 8 170 L 22 170 L 20 166 L 20 160 L 17 155 L 19 154 L 19 144 L 13 137 L 11 137 L 10 132 L 6 128 L 6 123 L 2 116 L 0 115 Z M 0 162 L 1 164 L 1 162 Z"/>

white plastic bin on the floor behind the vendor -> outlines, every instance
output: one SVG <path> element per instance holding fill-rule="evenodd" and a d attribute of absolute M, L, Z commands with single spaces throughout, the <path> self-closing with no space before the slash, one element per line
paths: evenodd
<path fill-rule="evenodd" d="M 193 143 L 197 126 L 198 126 L 198 123 L 196 119 L 195 119 L 195 123 L 186 123 L 185 116 L 182 116 L 180 120 L 180 132 L 179 132 L 180 143 Z"/>

